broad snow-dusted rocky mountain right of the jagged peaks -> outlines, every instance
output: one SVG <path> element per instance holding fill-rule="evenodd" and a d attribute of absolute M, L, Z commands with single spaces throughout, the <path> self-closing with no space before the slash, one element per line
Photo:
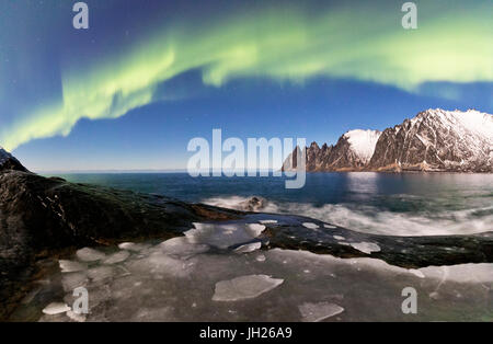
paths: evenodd
<path fill-rule="evenodd" d="M 424 111 L 382 133 L 368 168 L 493 172 L 493 116 L 474 110 Z"/>

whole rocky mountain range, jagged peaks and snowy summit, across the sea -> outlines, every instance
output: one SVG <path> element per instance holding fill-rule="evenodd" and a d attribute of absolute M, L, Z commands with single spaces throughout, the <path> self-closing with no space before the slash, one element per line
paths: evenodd
<path fill-rule="evenodd" d="M 293 157 L 283 167 L 290 170 Z M 427 110 L 383 133 L 351 130 L 335 146 L 307 148 L 307 171 L 493 172 L 493 116 Z"/>

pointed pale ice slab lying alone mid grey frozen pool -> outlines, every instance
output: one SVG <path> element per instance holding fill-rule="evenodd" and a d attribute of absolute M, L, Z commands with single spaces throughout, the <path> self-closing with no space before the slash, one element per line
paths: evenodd
<path fill-rule="evenodd" d="M 239 301 L 255 298 L 282 285 L 284 279 L 267 275 L 241 276 L 216 284 L 213 301 Z"/>

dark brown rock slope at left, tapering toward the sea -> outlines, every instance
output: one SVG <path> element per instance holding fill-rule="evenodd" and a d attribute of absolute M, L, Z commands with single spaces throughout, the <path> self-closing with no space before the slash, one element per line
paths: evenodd
<path fill-rule="evenodd" d="M 28 290 L 44 257 L 84 245 L 173 238 L 194 221 L 239 216 L 159 195 L 0 171 L 0 319 Z"/>

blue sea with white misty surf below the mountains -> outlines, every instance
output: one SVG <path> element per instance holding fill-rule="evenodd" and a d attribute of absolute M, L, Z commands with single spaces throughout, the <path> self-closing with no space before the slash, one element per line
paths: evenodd
<path fill-rule="evenodd" d="M 59 174 L 187 202 L 238 208 L 264 197 L 263 211 L 318 218 L 349 229 L 398 236 L 493 230 L 493 174 L 309 173 L 300 190 L 282 177 L 191 177 L 186 173 Z"/>

